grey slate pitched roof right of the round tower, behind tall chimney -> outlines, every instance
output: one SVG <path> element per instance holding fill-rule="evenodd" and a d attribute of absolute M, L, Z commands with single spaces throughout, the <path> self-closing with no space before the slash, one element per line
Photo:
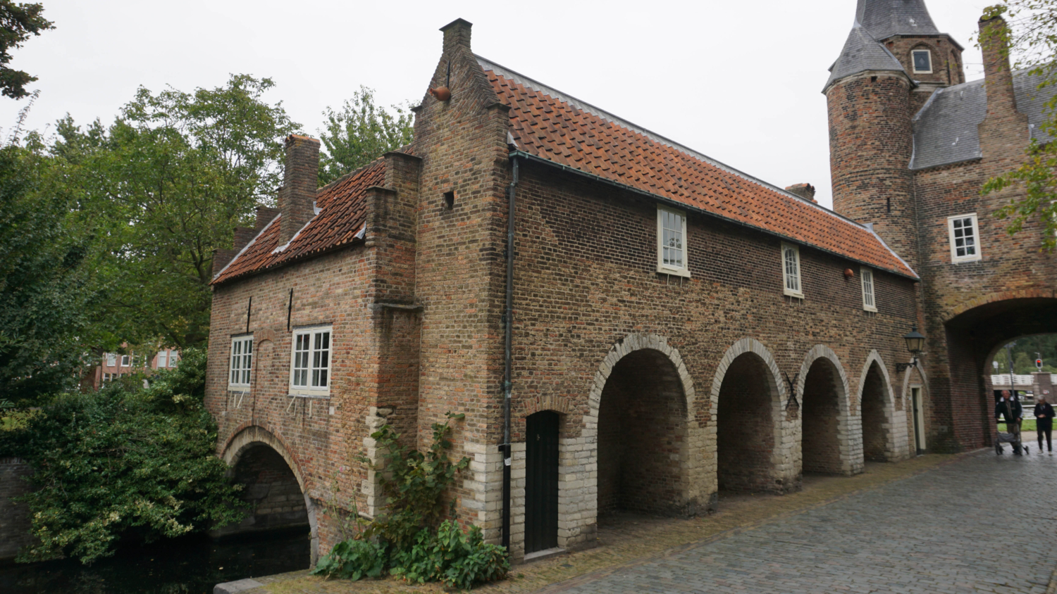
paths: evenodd
<path fill-rule="evenodd" d="M 1017 111 L 1027 116 L 1032 138 L 1050 140 L 1042 132 L 1043 109 L 1057 90 L 1038 88 L 1041 79 L 1026 71 L 1013 75 Z M 980 158 L 977 126 L 987 115 L 984 80 L 972 80 L 932 93 L 914 116 L 914 152 L 910 169 L 926 169 Z"/>

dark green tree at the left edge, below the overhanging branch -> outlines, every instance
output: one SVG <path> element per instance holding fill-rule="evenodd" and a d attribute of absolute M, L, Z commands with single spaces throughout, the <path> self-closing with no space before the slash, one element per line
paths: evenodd
<path fill-rule="evenodd" d="M 54 159 L 37 135 L 19 138 L 27 108 L 0 146 L 0 395 L 23 406 L 76 384 L 101 299 L 76 205 L 45 191 Z"/>

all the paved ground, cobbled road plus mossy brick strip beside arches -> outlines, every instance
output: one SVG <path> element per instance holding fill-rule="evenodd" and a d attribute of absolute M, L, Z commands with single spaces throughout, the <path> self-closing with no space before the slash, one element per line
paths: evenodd
<path fill-rule="evenodd" d="M 1031 445 L 1028 458 L 1007 448 L 868 462 L 855 477 L 808 476 L 784 496 L 721 493 L 719 513 L 688 520 L 609 518 L 598 548 L 516 566 L 474 592 L 1045 592 L 1057 566 L 1057 456 Z M 258 579 L 266 586 L 249 593 L 443 591 L 305 572 Z"/>

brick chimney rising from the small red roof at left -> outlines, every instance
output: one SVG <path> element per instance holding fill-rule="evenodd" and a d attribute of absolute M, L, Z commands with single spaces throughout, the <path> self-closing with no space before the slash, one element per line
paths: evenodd
<path fill-rule="evenodd" d="M 291 134 L 286 137 L 286 162 L 279 188 L 279 245 L 285 245 L 313 216 L 319 187 L 319 140 Z"/>

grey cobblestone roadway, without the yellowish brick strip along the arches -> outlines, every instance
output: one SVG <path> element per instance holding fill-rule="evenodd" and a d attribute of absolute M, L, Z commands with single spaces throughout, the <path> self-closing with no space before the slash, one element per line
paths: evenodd
<path fill-rule="evenodd" d="M 542 592 L 1040 593 L 1057 563 L 1057 458 L 994 452 Z"/>

